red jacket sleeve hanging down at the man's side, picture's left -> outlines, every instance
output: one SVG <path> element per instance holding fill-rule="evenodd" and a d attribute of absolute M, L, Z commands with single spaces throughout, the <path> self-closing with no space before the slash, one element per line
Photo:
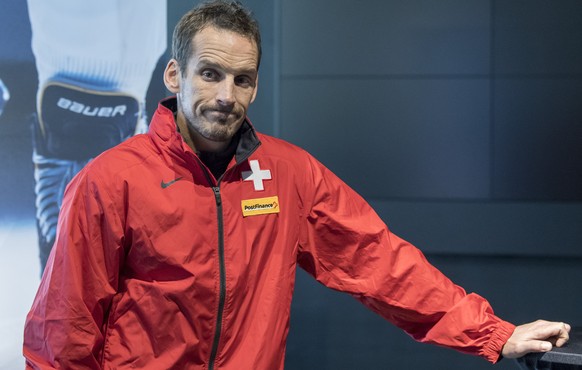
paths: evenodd
<path fill-rule="evenodd" d="M 123 202 L 97 180 L 82 171 L 65 192 L 56 242 L 26 318 L 27 369 L 100 369 L 124 253 L 115 208 Z"/>

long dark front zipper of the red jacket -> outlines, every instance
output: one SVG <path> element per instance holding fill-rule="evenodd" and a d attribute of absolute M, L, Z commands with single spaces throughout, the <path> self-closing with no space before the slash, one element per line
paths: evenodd
<path fill-rule="evenodd" d="M 213 186 L 214 199 L 218 215 L 218 268 L 220 274 L 220 286 L 218 294 L 218 312 L 216 315 L 216 328 L 214 331 L 214 341 L 212 342 L 212 351 L 208 362 L 208 370 L 214 369 L 214 362 L 218 353 L 218 344 L 222 332 L 222 315 L 224 311 L 224 302 L 226 300 L 226 266 L 224 263 L 224 220 L 222 215 L 222 198 L 220 197 L 220 186 Z"/>

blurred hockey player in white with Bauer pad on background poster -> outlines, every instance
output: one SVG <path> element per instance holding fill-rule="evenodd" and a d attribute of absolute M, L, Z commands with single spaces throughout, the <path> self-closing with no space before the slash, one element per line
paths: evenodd
<path fill-rule="evenodd" d="M 44 269 L 66 184 L 90 158 L 147 127 L 138 112 L 166 49 L 167 7 L 160 0 L 27 3 L 40 87 L 33 161 Z"/>

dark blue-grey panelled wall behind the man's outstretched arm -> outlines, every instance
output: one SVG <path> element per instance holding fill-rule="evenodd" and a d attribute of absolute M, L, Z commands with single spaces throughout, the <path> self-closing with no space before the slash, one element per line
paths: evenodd
<path fill-rule="evenodd" d="M 259 130 L 309 150 L 500 316 L 582 325 L 582 2 L 244 3 L 264 38 Z M 490 368 L 297 278 L 289 370 Z"/>

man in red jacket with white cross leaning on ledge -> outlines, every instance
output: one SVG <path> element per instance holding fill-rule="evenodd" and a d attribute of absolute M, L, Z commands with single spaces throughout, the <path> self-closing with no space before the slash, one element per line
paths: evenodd
<path fill-rule="evenodd" d="M 567 324 L 501 320 L 308 153 L 255 132 L 260 45 L 235 2 L 179 22 L 176 97 L 67 189 L 28 368 L 282 369 L 297 264 L 415 339 L 491 362 L 568 340 Z"/>

